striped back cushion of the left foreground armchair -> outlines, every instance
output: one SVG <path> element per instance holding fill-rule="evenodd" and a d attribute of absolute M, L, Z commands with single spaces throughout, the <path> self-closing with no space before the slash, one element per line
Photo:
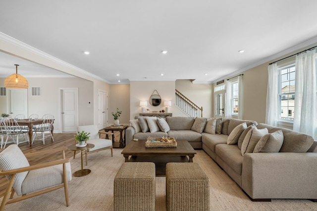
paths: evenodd
<path fill-rule="evenodd" d="M 0 153 L 0 168 L 3 171 L 19 169 L 23 167 L 29 167 L 30 164 L 23 152 L 16 144 L 8 146 L 5 150 Z M 22 195 L 21 185 L 27 176 L 28 171 L 17 173 L 15 175 L 15 180 L 13 183 L 13 189 L 17 195 Z M 10 180 L 11 175 L 5 175 L 8 180 Z"/>

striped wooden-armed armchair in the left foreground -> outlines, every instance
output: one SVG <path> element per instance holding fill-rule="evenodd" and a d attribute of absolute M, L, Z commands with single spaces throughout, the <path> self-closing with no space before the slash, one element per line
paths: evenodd
<path fill-rule="evenodd" d="M 60 160 L 30 166 L 27 157 L 38 156 L 39 154 L 62 152 Z M 6 185 L 0 211 L 4 211 L 5 205 L 19 202 L 43 193 L 48 193 L 59 188 L 64 188 L 66 206 L 69 205 L 68 181 L 71 181 L 71 168 L 69 159 L 65 159 L 63 149 L 53 149 L 45 152 L 32 152 L 23 154 L 20 148 L 12 144 L 0 153 L 0 176 L 5 176 L 9 182 Z M 18 197 L 14 199 L 14 193 Z M 58 192 L 57 194 L 60 194 Z M 9 200 L 11 199 L 11 200 Z M 47 203 L 56 202 L 51 199 Z M 24 208 L 25 210 L 27 208 Z"/>

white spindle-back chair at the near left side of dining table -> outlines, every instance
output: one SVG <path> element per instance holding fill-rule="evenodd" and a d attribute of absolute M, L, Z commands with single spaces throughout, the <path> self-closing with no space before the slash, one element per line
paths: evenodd
<path fill-rule="evenodd" d="M 3 119 L 2 123 L 5 127 L 5 131 L 7 134 L 7 137 L 6 137 L 5 143 L 4 143 L 4 148 L 5 148 L 5 145 L 8 143 L 9 137 L 12 138 L 11 142 L 16 143 L 17 146 L 19 145 L 19 143 L 24 143 L 24 142 L 30 143 L 28 131 L 22 130 L 22 128 L 19 126 L 19 124 L 17 123 L 17 121 L 15 119 L 9 119 L 6 117 Z M 21 135 L 21 134 L 25 135 L 25 137 L 23 138 L 23 141 L 19 141 L 19 135 Z M 16 136 L 16 141 L 15 141 L 15 136 Z"/>

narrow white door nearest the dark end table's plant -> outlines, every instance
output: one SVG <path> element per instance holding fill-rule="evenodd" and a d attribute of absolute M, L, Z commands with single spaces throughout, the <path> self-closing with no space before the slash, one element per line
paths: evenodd
<path fill-rule="evenodd" d="M 98 91 L 98 127 L 99 129 L 108 126 L 108 94 Z"/>

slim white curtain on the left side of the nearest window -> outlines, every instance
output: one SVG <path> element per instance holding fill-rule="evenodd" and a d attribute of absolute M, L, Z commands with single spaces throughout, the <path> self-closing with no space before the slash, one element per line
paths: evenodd
<path fill-rule="evenodd" d="M 265 124 L 276 127 L 277 119 L 278 119 L 278 71 L 277 71 L 276 63 L 273 63 L 268 66 Z"/>

